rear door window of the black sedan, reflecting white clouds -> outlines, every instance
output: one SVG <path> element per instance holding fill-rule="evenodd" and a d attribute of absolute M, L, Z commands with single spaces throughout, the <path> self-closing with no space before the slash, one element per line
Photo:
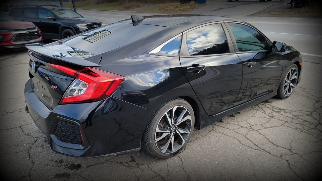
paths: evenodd
<path fill-rule="evenodd" d="M 227 37 L 221 24 L 211 24 L 187 33 L 190 55 L 229 53 Z"/>

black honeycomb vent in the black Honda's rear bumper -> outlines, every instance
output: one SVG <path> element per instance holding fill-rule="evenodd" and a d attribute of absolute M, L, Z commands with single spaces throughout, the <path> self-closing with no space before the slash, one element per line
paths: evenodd
<path fill-rule="evenodd" d="M 65 143 L 82 144 L 78 126 L 72 122 L 58 120 L 54 129 L 54 135 Z"/>

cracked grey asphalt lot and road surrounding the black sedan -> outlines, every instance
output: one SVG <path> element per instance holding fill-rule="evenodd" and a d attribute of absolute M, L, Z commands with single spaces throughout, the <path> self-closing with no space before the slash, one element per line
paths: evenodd
<path fill-rule="evenodd" d="M 121 12 L 79 11 L 105 24 Z M 114 18 L 114 19 L 111 19 Z M 0 55 L 0 166 L 8 180 L 321 180 L 321 20 L 239 17 L 304 58 L 302 82 L 286 100 L 271 98 L 194 130 L 183 152 L 155 159 L 144 151 L 80 159 L 54 153 L 24 111 L 25 51 Z M 286 33 L 286 34 L 282 34 Z"/>

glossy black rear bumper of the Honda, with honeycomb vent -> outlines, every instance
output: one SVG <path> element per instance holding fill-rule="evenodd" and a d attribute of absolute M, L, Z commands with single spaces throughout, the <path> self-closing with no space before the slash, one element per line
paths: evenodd
<path fill-rule="evenodd" d="M 90 158 L 140 149 L 153 112 L 114 97 L 83 104 L 46 107 L 25 84 L 26 111 L 58 153 Z"/>

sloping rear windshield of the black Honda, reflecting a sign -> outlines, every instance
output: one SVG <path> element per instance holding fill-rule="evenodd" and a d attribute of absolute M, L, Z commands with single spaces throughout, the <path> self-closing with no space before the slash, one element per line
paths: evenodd
<path fill-rule="evenodd" d="M 93 54 L 99 54 L 137 41 L 162 29 L 164 29 L 162 26 L 145 24 L 133 26 L 132 23 L 113 23 L 84 32 L 71 40 L 62 40 L 62 44 Z"/>

